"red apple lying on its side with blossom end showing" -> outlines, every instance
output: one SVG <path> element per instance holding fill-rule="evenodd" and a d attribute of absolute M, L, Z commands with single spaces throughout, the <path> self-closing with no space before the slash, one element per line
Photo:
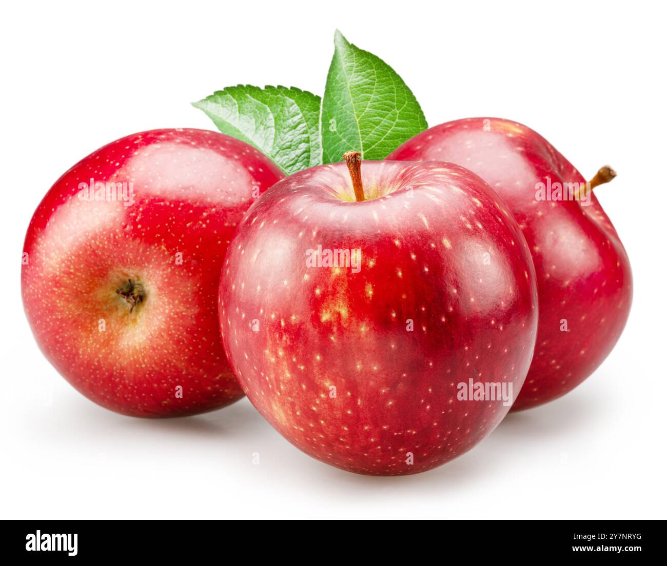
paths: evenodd
<path fill-rule="evenodd" d="M 281 177 L 249 145 L 197 129 L 129 135 L 79 161 L 25 238 L 23 304 L 47 359 L 125 415 L 190 415 L 242 397 L 219 335 L 219 272 L 253 191 Z M 131 205 L 80 199 L 90 179 L 132 182 Z M 145 290 L 133 312 L 115 292 L 128 278 Z"/>

